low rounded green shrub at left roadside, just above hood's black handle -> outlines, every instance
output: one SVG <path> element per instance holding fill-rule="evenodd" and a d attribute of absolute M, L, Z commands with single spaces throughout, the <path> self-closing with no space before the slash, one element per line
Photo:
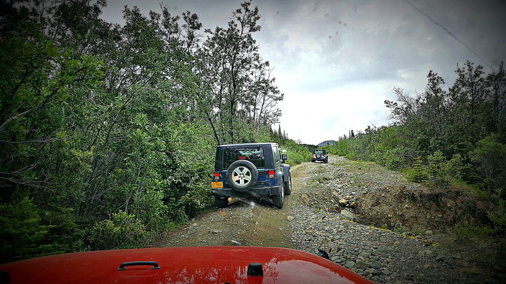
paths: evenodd
<path fill-rule="evenodd" d="M 112 220 L 96 223 L 88 242 L 92 250 L 128 249 L 145 245 L 145 237 L 145 228 L 135 215 L 121 211 L 112 214 Z"/>

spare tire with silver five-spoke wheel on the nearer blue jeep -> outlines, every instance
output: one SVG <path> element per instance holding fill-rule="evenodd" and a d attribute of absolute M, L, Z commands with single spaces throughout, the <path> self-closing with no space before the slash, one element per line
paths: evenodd
<path fill-rule="evenodd" d="M 250 161 L 235 161 L 227 169 L 227 182 L 235 191 L 244 193 L 252 190 L 257 185 L 257 181 L 257 167 Z"/>

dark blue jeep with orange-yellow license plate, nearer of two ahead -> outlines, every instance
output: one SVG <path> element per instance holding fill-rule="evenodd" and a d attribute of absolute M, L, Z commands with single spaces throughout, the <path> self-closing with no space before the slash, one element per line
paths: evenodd
<path fill-rule="evenodd" d="M 211 183 L 216 207 L 228 206 L 232 197 L 272 199 L 282 208 L 291 194 L 290 165 L 277 143 L 222 145 L 216 148 L 215 172 Z"/>

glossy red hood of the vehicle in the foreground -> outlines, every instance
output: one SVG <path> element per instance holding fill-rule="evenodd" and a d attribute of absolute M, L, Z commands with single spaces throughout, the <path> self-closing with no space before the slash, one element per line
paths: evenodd
<path fill-rule="evenodd" d="M 152 266 L 122 262 L 155 261 Z M 248 276 L 261 263 L 264 276 Z M 329 260 L 265 247 L 183 247 L 60 254 L 0 265 L 9 283 L 372 283 Z"/>

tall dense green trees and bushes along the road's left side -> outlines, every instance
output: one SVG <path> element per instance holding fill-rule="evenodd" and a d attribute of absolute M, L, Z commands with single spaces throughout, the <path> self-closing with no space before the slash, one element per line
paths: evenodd
<path fill-rule="evenodd" d="M 279 141 L 258 8 L 225 28 L 104 0 L 0 7 L 0 261 L 141 246 L 212 201 L 217 145 Z M 309 154 L 307 153 L 308 157 Z"/>

